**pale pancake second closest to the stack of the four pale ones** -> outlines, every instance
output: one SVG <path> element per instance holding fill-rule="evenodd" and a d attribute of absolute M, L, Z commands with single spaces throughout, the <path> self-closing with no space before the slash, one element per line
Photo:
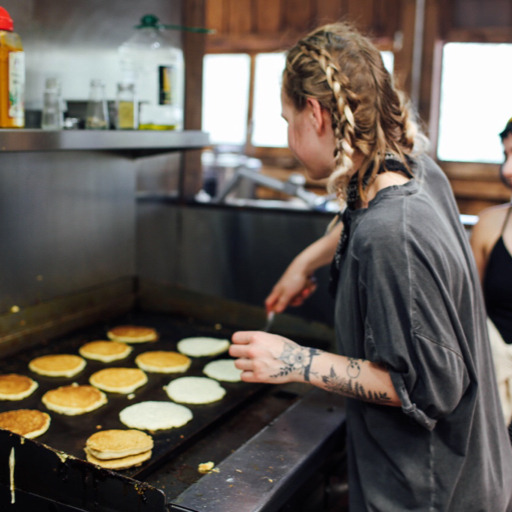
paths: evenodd
<path fill-rule="evenodd" d="M 164 387 L 167 396 L 183 404 L 209 404 L 221 400 L 226 390 L 207 377 L 180 377 Z"/>

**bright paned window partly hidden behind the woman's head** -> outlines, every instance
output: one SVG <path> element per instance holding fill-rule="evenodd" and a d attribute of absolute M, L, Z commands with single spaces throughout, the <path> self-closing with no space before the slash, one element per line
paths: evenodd
<path fill-rule="evenodd" d="M 393 53 L 382 52 L 393 72 Z M 254 76 L 250 76 L 254 59 Z M 209 54 L 203 64 L 203 130 L 212 144 L 287 147 L 286 122 L 281 118 L 281 75 L 285 53 Z M 252 123 L 248 138 L 250 80 L 254 84 Z"/>

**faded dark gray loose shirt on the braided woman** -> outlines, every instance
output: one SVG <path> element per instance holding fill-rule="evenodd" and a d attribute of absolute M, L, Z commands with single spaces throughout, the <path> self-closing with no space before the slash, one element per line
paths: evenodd
<path fill-rule="evenodd" d="M 347 399 L 350 510 L 512 511 L 512 450 L 467 235 L 441 169 L 351 212 L 339 352 L 384 365 L 402 407 Z"/>

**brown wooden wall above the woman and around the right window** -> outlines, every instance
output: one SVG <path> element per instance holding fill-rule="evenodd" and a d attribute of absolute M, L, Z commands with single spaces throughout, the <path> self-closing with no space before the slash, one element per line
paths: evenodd
<path fill-rule="evenodd" d="M 440 49 L 445 41 L 512 42 L 511 0 L 204 0 L 205 24 L 215 29 L 206 52 L 282 50 L 312 28 L 346 19 L 395 54 L 395 79 L 415 102 L 431 137 L 437 138 Z M 185 2 L 186 3 L 186 2 Z M 416 9 L 424 10 L 420 25 Z M 414 51 L 415 28 L 419 52 Z M 418 48 L 418 46 L 416 46 Z M 415 60 L 416 57 L 419 59 Z M 418 62 L 419 60 L 419 62 Z M 506 117 L 506 113 L 504 117 Z M 463 213 L 510 197 L 498 166 L 440 162 Z"/>

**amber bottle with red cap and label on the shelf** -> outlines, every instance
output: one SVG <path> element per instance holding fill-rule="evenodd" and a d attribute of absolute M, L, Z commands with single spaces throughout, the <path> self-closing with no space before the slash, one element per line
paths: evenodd
<path fill-rule="evenodd" d="M 0 7 L 0 128 L 25 126 L 25 53 L 9 13 Z"/>

